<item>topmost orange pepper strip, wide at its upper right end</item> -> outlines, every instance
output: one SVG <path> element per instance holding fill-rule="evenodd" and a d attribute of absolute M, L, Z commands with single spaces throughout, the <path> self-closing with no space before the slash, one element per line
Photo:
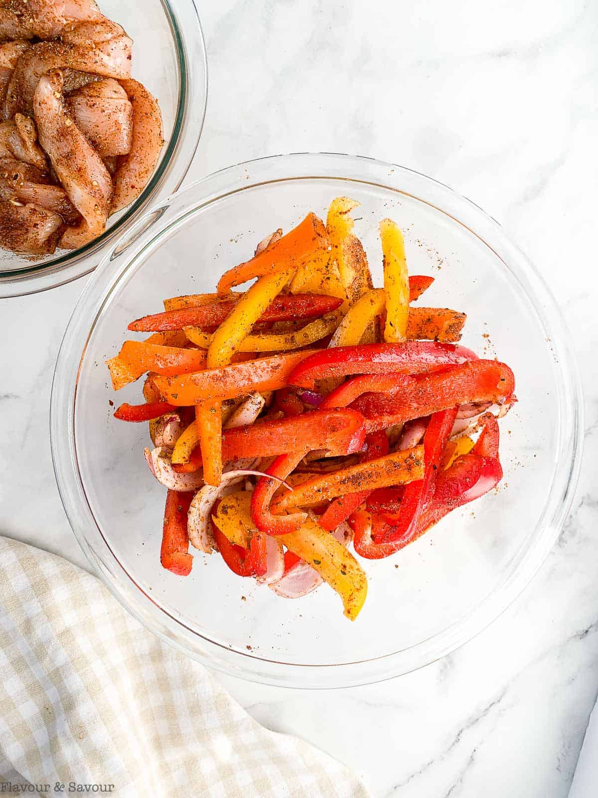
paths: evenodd
<path fill-rule="evenodd" d="M 226 271 L 218 282 L 218 294 L 226 294 L 232 287 L 254 277 L 297 270 L 305 263 L 321 259 L 328 250 L 329 238 L 324 224 L 317 215 L 309 213 L 297 227 L 259 255 Z"/>

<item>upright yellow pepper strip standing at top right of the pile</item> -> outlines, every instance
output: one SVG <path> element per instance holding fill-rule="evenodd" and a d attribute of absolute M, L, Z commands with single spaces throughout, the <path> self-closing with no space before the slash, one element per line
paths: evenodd
<path fill-rule="evenodd" d="M 380 239 L 384 255 L 384 294 L 386 294 L 384 341 L 401 343 L 407 340 L 409 316 L 409 275 L 403 233 L 391 219 L 383 219 L 380 222 Z"/>

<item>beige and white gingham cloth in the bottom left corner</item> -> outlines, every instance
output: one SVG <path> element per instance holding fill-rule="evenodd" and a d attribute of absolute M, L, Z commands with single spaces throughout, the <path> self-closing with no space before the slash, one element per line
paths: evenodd
<path fill-rule="evenodd" d="M 2 537 L 0 575 L 0 795 L 367 798 L 349 768 L 259 725 L 96 577 Z"/>

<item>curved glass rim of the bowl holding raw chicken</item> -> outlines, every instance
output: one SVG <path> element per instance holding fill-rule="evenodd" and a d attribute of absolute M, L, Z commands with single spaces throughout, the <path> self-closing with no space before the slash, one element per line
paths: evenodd
<path fill-rule="evenodd" d="M 111 227 L 77 250 L 52 260 L 18 269 L 0 271 L 0 298 L 35 294 L 89 275 L 104 259 L 108 247 L 124 235 L 148 203 L 178 191 L 191 167 L 206 118 L 208 77 L 207 49 L 195 0 L 159 0 L 171 30 L 178 64 L 178 98 L 175 120 L 151 179 L 144 190 L 121 212 Z M 190 53 L 190 46 L 194 52 Z M 203 76 L 203 79 L 202 79 Z M 94 258 L 94 255 L 96 256 Z"/>

